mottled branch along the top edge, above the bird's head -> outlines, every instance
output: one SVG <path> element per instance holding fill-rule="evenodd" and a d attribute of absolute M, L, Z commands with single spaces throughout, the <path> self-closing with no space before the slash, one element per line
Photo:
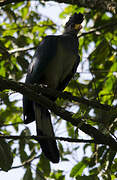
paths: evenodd
<path fill-rule="evenodd" d="M 25 0 L 2 0 L 0 2 L 0 6 L 4 6 L 10 3 L 18 3 L 23 2 Z M 28 1 L 28 0 L 27 0 Z M 44 2 L 48 2 L 50 0 L 44 0 Z M 52 0 L 58 3 L 67 3 L 72 5 L 77 5 L 78 7 L 85 7 L 89 9 L 94 9 L 102 12 L 110 11 L 112 13 L 116 13 L 117 11 L 117 2 L 113 0 Z"/>

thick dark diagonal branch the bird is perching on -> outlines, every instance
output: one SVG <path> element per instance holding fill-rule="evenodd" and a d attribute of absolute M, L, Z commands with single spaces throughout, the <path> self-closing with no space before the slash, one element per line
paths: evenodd
<path fill-rule="evenodd" d="M 39 103 L 42 107 L 50 109 L 56 115 L 60 116 L 64 120 L 70 122 L 72 125 L 78 127 L 89 136 L 93 137 L 96 143 L 109 145 L 113 150 L 117 150 L 117 142 L 110 135 L 107 136 L 91 125 L 84 123 L 81 119 L 73 117 L 73 113 L 57 106 L 47 97 L 35 93 L 34 90 L 28 88 L 24 83 L 17 83 L 13 80 L 8 80 L 0 76 L 0 89 L 11 89 L 28 96 L 29 99 Z"/>

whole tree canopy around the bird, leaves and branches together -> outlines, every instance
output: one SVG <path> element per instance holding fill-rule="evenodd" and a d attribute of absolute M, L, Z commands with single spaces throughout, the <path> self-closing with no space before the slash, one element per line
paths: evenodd
<path fill-rule="evenodd" d="M 53 1 L 58 6 L 66 2 Z M 38 44 L 48 34 L 62 33 L 63 25 L 60 27 L 54 17 L 40 12 L 40 6 L 46 8 L 47 2 L 0 1 L 0 171 L 22 167 L 23 180 L 114 180 L 117 178 L 117 2 L 67 1 L 59 15 L 61 22 L 75 12 L 83 13 L 85 20 L 78 36 L 81 62 L 63 93 L 22 83 Z M 37 137 L 29 126 L 24 126 L 21 94 L 51 110 L 61 155 L 59 168 L 43 156 Z M 48 94 L 58 97 L 56 102 L 46 98 Z M 13 165 L 16 157 L 17 166 Z M 67 165 L 62 164 L 71 163 L 66 177 L 66 167 L 62 166 Z"/>

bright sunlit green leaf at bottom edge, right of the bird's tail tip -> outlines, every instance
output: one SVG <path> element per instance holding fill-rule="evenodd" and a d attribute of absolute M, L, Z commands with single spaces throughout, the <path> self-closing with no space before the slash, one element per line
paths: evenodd
<path fill-rule="evenodd" d="M 70 177 L 77 177 L 81 175 L 85 168 L 86 168 L 86 164 L 83 161 L 79 162 L 72 168 Z"/>

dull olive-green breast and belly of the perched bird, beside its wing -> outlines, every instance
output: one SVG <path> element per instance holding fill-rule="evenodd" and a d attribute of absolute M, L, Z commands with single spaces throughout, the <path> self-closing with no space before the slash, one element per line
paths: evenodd
<path fill-rule="evenodd" d="M 67 48 L 68 47 L 68 48 Z M 43 83 L 56 88 L 71 72 L 77 54 L 64 43 L 58 43 L 55 57 L 50 61 L 43 74 Z"/>

